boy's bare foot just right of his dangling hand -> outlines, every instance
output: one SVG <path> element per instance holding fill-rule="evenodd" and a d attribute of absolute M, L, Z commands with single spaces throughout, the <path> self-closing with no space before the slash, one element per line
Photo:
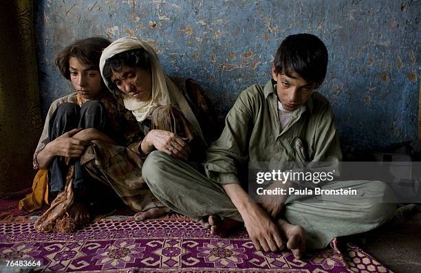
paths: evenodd
<path fill-rule="evenodd" d="M 299 260 L 305 252 L 305 230 L 301 226 L 295 226 L 288 223 L 285 219 L 276 221 L 279 230 L 285 235 L 287 248 L 294 254 L 295 259 Z"/>

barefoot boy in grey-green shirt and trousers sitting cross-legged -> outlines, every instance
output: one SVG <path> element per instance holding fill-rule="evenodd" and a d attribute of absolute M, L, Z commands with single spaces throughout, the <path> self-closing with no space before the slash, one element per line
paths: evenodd
<path fill-rule="evenodd" d="M 341 162 L 334 113 L 327 98 L 315 91 L 325 78 L 327 58 L 318 37 L 288 36 L 274 57 L 268 83 L 252 85 L 237 98 L 222 135 L 206 151 L 202 170 L 159 151 L 149 155 L 143 174 L 155 197 L 176 212 L 204 219 L 220 236 L 244 224 L 257 250 L 288 248 L 296 259 L 306 247 L 324 248 L 335 237 L 385 223 L 396 205 L 375 199 L 391 195 L 382 182 L 294 182 L 313 190 L 358 188 L 362 193 L 307 195 L 305 201 L 288 194 L 296 186 L 292 181 L 273 182 L 266 189 L 286 193 L 250 201 L 244 179 L 248 164 L 266 162 L 284 172 L 314 170 L 319 162 L 335 170 Z"/>

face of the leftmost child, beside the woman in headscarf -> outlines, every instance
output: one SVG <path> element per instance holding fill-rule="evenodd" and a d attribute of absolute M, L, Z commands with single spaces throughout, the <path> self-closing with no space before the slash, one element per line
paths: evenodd
<path fill-rule="evenodd" d="M 93 100 L 102 94 L 102 78 L 96 67 L 85 66 L 78 58 L 69 58 L 70 80 L 78 96 Z"/>

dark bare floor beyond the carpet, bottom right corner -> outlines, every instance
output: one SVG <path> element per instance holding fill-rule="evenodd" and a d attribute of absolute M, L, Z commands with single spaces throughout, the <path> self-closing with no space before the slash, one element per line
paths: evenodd
<path fill-rule="evenodd" d="M 369 232 L 365 252 L 396 273 L 421 272 L 421 205 Z"/>

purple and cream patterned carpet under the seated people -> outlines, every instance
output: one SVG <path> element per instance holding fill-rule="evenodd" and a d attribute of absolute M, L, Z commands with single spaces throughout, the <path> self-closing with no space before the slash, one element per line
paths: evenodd
<path fill-rule="evenodd" d="M 341 254 L 337 240 L 297 261 L 256 251 L 245 231 L 221 239 L 180 217 L 107 217 L 72 234 L 36 232 L 29 219 L 0 223 L 0 259 L 39 259 L 35 272 L 390 272 L 354 245 Z"/>

